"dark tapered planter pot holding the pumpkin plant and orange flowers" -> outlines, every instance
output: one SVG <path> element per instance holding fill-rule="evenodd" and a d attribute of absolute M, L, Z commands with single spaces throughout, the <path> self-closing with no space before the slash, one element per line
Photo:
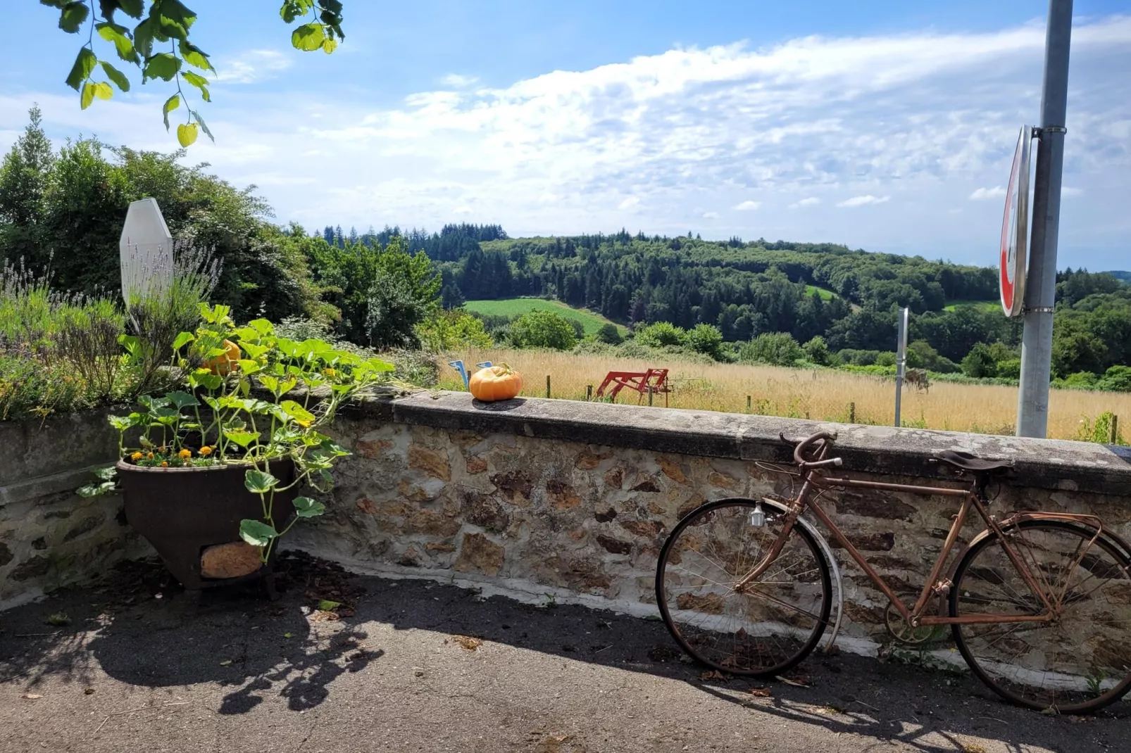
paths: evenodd
<path fill-rule="evenodd" d="M 153 545 L 184 588 L 209 588 L 270 573 L 271 562 L 239 577 L 210 578 L 201 569 L 201 557 L 209 547 L 226 544 L 234 545 L 233 549 L 245 549 L 240 538 L 240 521 L 264 517 L 259 495 L 243 485 L 249 467 L 236 464 L 143 468 L 119 461 L 118 478 L 126 500 L 127 520 Z M 291 460 L 273 460 L 269 470 L 280 486 L 294 479 Z M 295 496 L 296 487 L 275 493 L 273 512 L 277 530 L 285 528 L 294 517 L 292 502 Z M 276 548 L 277 545 L 271 560 Z"/>

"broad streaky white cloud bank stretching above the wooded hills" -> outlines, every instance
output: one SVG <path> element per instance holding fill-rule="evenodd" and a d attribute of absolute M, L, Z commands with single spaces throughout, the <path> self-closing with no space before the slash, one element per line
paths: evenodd
<path fill-rule="evenodd" d="M 373 104 L 378 95 L 357 80 L 325 81 L 313 93 L 290 78 L 256 86 L 300 54 L 257 51 L 267 54 L 249 68 L 223 66 L 222 80 L 252 85 L 240 97 L 214 90 L 200 112 L 217 141 L 201 139 L 187 162 L 207 161 L 236 184 L 275 176 L 261 191 L 278 218 L 311 227 L 437 228 L 466 207 L 470 219 L 515 235 L 619 230 L 629 210 L 639 223 L 629 230 L 675 234 L 696 230 L 703 207 L 742 207 L 758 196 L 757 215 L 724 213 L 711 233 L 985 261 L 976 254 L 994 245 L 1000 207 L 965 199 L 1008 176 L 1019 123 L 1041 98 L 1043 50 L 1042 24 L 811 36 L 759 50 L 673 49 L 500 88 L 456 87 L 448 76 L 437 90 L 391 105 Z M 1063 249 L 1115 254 L 1131 236 L 1122 206 L 1131 194 L 1125 70 L 1131 16 L 1079 20 L 1064 180 L 1089 201 L 1065 202 Z M 164 94 L 156 84 L 85 112 L 62 85 L 0 94 L 0 150 L 33 101 L 57 142 L 96 132 L 110 144 L 171 150 L 163 97 L 149 94 Z M 317 156 L 296 158 L 311 149 Z M 823 209 L 832 196 L 847 198 L 838 206 L 872 209 L 784 211 Z M 942 209 L 958 202 L 967 207 L 961 223 Z"/>

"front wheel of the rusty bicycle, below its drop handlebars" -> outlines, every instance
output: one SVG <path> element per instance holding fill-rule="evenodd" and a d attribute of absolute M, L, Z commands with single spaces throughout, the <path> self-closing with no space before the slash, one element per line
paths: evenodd
<path fill-rule="evenodd" d="M 743 587 L 766 556 L 784 514 L 757 502 L 719 500 L 676 525 L 659 553 L 656 603 L 672 637 L 692 657 L 720 672 L 777 675 L 805 658 L 821 639 L 832 585 L 815 539 L 795 525 L 777 559 Z"/>

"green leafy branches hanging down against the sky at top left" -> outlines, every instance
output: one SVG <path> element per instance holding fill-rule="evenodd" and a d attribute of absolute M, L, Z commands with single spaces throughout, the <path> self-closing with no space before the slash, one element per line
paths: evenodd
<path fill-rule="evenodd" d="M 189 38 L 197 14 L 184 3 L 180 0 L 97 0 L 97 3 L 95 0 L 40 0 L 40 3 L 59 10 L 59 28 L 68 34 L 87 32 L 87 41 L 79 47 L 66 79 L 67 85 L 78 92 L 83 110 L 95 99 L 113 97 L 114 87 L 120 92 L 130 90 L 129 77 L 110 60 L 100 59 L 94 46 L 97 37 L 113 46 L 118 57 L 115 62 L 127 62 L 141 70 L 141 84 L 150 79 L 175 84 L 176 92 L 162 105 L 162 114 L 167 131 L 170 114 L 182 107 L 185 111 L 184 122 L 176 127 L 176 140 L 181 146 L 192 145 L 200 131 L 215 141 L 181 87 L 182 83 L 188 84 L 197 89 L 200 99 L 211 102 L 205 73 L 216 72 L 208 53 Z M 137 21 L 133 28 L 115 20 L 124 21 L 123 17 Z M 329 54 L 345 40 L 340 0 L 284 0 L 279 17 L 288 25 L 304 21 L 291 34 L 295 50 L 321 50 Z M 96 79 L 101 78 L 100 71 L 105 80 Z"/>

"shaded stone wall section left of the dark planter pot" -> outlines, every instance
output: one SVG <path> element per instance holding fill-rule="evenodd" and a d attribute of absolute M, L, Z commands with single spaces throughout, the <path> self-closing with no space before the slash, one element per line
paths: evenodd
<path fill-rule="evenodd" d="M 116 452 L 105 413 L 0 422 L 0 608 L 148 552 L 120 496 L 75 494 Z"/>

